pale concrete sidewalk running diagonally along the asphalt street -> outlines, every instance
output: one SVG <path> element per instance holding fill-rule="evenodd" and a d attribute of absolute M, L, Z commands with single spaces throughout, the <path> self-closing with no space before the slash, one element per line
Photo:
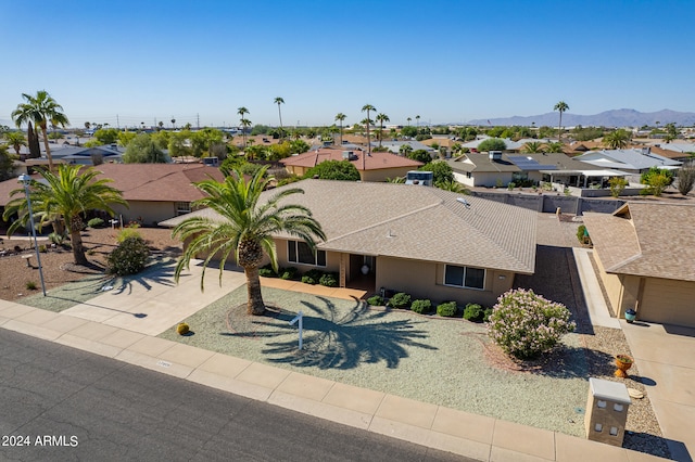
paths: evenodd
<path fill-rule="evenodd" d="M 0 326 L 482 461 L 660 460 L 641 452 L 362 389 L 12 301 L 0 300 Z"/>

